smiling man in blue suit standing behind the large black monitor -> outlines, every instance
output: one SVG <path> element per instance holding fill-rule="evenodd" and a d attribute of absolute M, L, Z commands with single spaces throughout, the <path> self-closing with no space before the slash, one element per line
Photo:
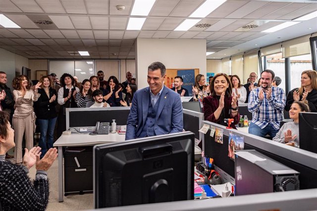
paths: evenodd
<path fill-rule="evenodd" d="M 164 86 L 166 68 L 160 62 L 148 67 L 149 87 L 135 92 L 127 121 L 125 140 L 183 130 L 180 95 Z"/>

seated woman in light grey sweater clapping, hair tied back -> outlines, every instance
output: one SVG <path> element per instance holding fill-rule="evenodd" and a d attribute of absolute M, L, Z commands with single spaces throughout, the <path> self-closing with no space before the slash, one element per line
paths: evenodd
<path fill-rule="evenodd" d="M 294 121 L 285 123 L 276 133 L 273 141 L 299 147 L 299 113 L 309 111 L 309 106 L 305 101 L 295 101 L 289 110 L 289 117 Z"/>

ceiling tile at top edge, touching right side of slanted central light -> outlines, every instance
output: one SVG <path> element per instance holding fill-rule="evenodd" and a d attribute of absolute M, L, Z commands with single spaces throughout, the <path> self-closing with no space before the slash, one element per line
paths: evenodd
<path fill-rule="evenodd" d="M 248 2 L 248 0 L 227 0 L 207 15 L 207 18 L 224 18 Z"/>

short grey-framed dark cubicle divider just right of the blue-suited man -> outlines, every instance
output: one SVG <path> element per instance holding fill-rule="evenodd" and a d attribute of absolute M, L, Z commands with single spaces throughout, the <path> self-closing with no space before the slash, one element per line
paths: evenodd
<path fill-rule="evenodd" d="M 198 146 L 204 150 L 204 134 L 198 130 L 202 127 L 204 114 L 196 111 L 183 109 L 183 128 L 186 131 L 195 133 L 195 139 L 200 140 Z"/>

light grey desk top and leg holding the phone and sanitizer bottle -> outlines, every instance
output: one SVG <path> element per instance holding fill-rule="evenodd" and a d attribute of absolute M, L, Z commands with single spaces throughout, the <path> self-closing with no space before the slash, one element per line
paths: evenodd
<path fill-rule="evenodd" d="M 54 147 L 58 147 L 58 202 L 63 201 L 64 177 L 63 177 L 63 147 L 69 146 L 93 146 L 96 144 L 106 144 L 121 142 L 125 140 L 125 135 L 109 133 L 107 135 L 71 134 L 61 135 Z"/>

